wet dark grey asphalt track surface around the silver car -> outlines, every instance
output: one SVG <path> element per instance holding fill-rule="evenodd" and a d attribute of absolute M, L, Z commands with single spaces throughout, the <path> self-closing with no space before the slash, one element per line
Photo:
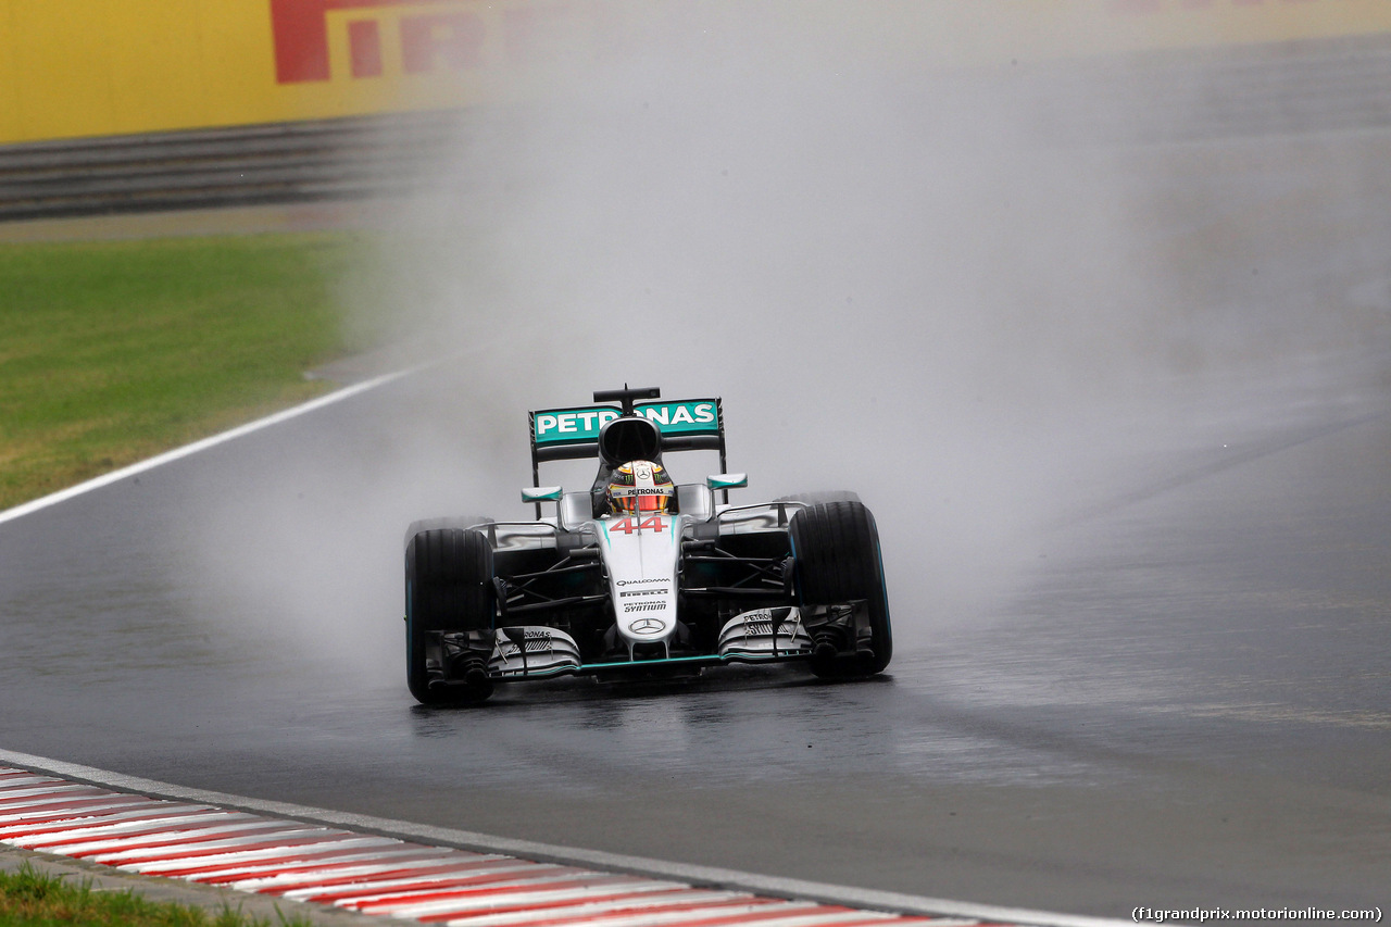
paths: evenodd
<path fill-rule="evenodd" d="M 431 380 L 0 525 L 0 745 L 1071 913 L 1391 901 L 1384 379 L 1225 448 L 1175 443 L 1059 518 L 970 621 L 917 614 L 900 569 L 883 678 L 559 682 L 473 711 L 402 679 L 398 508 L 434 490 L 399 464 Z M 490 484 L 460 468 L 435 511 Z"/>

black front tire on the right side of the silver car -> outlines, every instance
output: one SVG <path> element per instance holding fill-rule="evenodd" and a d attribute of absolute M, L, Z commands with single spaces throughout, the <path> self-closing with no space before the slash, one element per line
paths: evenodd
<path fill-rule="evenodd" d="M 893 658 L 893 625 L 874 515 L 858 500 L 818 502 L 793 515 L 789 533 L 797 558 L 797 597 L 803 605 L 864 599 L 869 607 L 872 654 L 812 658 L 812 672 L 822 678 L 882 672 Z"/>

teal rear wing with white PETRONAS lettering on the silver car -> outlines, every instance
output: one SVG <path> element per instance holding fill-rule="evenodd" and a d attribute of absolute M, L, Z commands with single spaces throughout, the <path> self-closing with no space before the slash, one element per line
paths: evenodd
<path fill-rule="evenodd" d="M 634 415 L 645 418 L 661 430 L 664 454 L 719 451 L 719 469 L 725 472 L 725 415 L 719 397 L 670 402 L 629 399 L 625 401 L 625 406 L 630 406 Z M 623 409 L 613 405 L 583 405 L 540 409 L 527 415 L 531 422 L 531 482 L 540 486 L 542 461 L 581 461 L 590 457 L 597 459 L 600 429 L 622 416 Z"/>

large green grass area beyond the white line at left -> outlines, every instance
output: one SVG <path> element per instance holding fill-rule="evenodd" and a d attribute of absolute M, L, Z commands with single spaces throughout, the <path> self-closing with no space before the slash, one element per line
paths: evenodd
<path fill-rule="evenodd" d="M 345 232 L 0 245 L 0 509 L 328 386 Z"/>

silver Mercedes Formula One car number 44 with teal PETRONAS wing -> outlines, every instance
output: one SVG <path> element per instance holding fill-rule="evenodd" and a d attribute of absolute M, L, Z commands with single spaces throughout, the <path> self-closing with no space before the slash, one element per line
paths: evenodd
<path fill-rule="evenodd" d="M 531 412 L 536 521 L 416 522 L 406 534 L 406 681 L 424 704 L 565 674 L 698 675 L 800 661 L 823 678 L 889 665 L 893 636 L 874 516 L 853 493 L 730 505 L 721 401 L 611 390 Z M 612 405 L 612 404 L 618 405 Z M 672 451 L 719 451 L 676 484 Z M 598 459 L 588 491 L 541 486 L 542 461 Z M 716 501 L 716 494 L 722 496 Z M 554 516 L 542 516 L 554 504 Z"/>

